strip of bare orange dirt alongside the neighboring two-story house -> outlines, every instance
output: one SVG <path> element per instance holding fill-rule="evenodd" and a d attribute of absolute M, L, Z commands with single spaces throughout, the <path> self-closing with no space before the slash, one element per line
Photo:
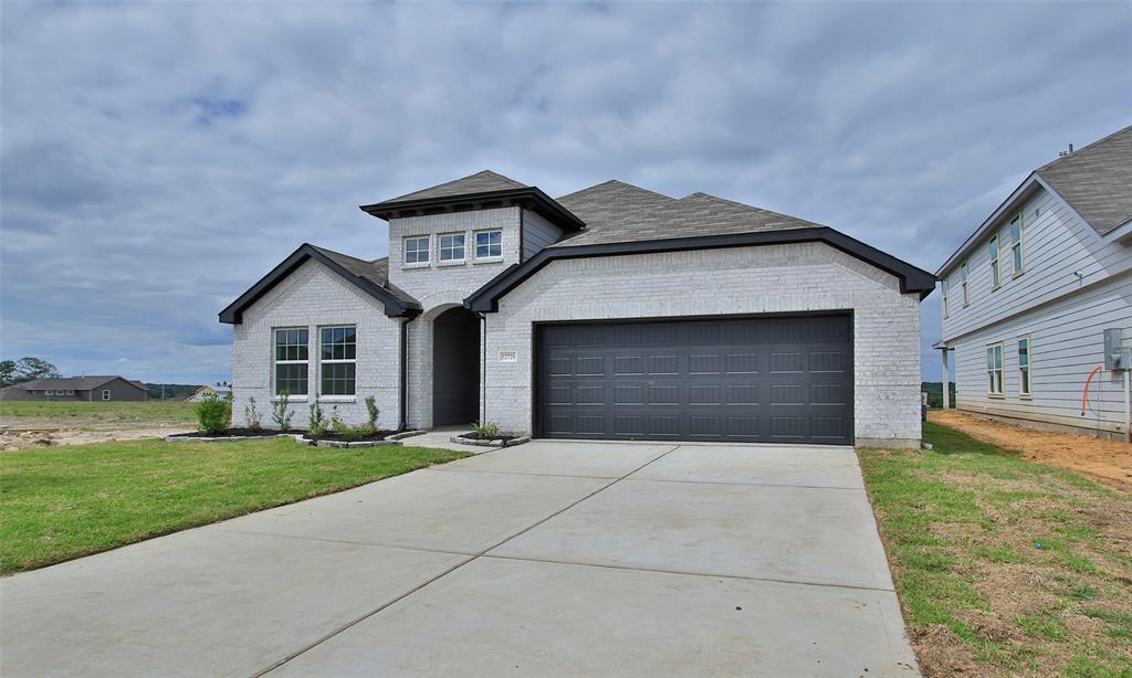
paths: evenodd
<path fill-rule="evenodd" d="M 1126 443 L 1037 431 L 967 412 L 933 410 L 928 419 L 1005 450 L 1021 450 L 1029 461 L 1069 469 L 1132 492 L 1132 445 Z"/>

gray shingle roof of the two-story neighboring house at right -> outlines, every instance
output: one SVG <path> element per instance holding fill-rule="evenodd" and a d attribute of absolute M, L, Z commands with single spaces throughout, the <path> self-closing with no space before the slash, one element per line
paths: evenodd
<path fill-rule="evenodd" d="M 1101 235 L 1132 219 L 1132 127 L 1036 172 Z"/>

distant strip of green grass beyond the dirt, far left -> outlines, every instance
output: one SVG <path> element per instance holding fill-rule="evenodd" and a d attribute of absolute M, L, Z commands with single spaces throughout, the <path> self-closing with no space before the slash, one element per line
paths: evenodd
<path fill-rule="evenodd" d="M 148 400 L 138 402 L 27 402 L 0 401 L 0 421 L 83 426 L 88 424 L 196 423 L 194 402 Z"/>

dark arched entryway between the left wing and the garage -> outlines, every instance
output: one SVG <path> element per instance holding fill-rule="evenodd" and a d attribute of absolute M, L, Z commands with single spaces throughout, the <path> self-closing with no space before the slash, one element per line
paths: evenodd
<path fill-rule="evenodd" d="M 480 323 L 462 306 L 432 321 L 432 425 L 468 425 L 480 416 Z"/>

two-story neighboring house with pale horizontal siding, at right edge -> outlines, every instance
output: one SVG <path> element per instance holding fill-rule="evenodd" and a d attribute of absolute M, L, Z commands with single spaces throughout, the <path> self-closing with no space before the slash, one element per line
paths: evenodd
<path fill-rule="evenodd" d="M 1132 339 L 1132 127 L 1034 171 L 936 275 L 959 409 L 1122 434 L 1122 373 L 1096 373 L 1081 405 L 1103 330 Z"/>

